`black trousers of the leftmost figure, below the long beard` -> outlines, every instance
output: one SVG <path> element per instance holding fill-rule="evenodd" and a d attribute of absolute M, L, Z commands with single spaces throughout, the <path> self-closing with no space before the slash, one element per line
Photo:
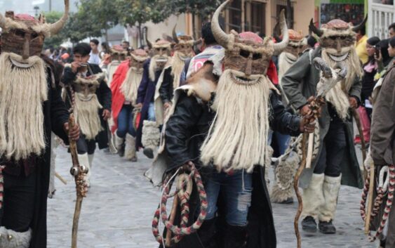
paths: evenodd
<path fill-rule="evenodd" d="M 11 176 L 4 173 L 4 206 L 0 226 L 26 232 L 33 221 L 36 197 L 36 173 Z"/>

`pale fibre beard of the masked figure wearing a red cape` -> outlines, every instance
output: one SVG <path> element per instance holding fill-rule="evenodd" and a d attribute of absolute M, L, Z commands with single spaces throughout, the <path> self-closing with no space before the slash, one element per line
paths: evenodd
<path fill-rule="evenodd" d="M 138 86 L 142 79 L 142 71 L 137 70 L 135 67 L 130 67 L 126 79 L 121 85 L 121 93 L 125 96 L 125 99 L 130 101 L 132 104 L 137 100 Z"/>

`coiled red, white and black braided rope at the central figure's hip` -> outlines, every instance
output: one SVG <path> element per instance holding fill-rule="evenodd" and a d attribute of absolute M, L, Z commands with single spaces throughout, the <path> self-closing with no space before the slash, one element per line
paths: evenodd
<path fill-rule="evenodd" d="M 178 176 L 177 187 L 175 189 L 175 192 L 173 192 L 172 194 L 170 194 L 170 188 L 173 184 L 172 178 L 174 176 L 169 175 L 163 182 L 163 185 L 165 186 L 163 188 L 161 203 L 159 204 L 158 209 L 156 209 L 154 219 L 152 220 L 152 233 L 154 234 L 156 241 L 158 241 L 159 243 L 163 243 L 165 241 L 165 239 L 159 233 L 159 218 L 161 218 L 161 221 L 167 228 L 168 232 L 173 235 L 173 237 L 171 237 L 171 240 L 166 240 L 166 244 L 170 244 L 166 246 L 173 246 L 174 244 L 180 242 L 182 237 L 195 233 L 197 230 L 199 230 L 203 221 L 206 219 L 208 207 L 207 196 L 199 171 L 192 163 L 186 164 L 184 167 L 182 167 L 182 170 L 183 173 Z M 190 173 L 186 174 L 185 171 L 190 171 Z M 196 221 L 191 226 L 187 226 L 189 220 L 189 199 L 192 193 L 192 180 L 195 181 L 196 188 L 199 192 L 200 213 Z M 174 223 L 172 223 L 173 221 L 168 220 L 166 204 L 168 199 L 171 197 L 174 197 L 174 200 L 177 200 L 177 197 L 178 199 L 180 199 L 180 226 L 176 226 Z"/>

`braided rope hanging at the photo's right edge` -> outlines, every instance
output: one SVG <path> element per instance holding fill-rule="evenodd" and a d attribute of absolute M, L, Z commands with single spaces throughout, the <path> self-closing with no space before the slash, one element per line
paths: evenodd
<path fill-rule="evenodd" d="M 382 176 L 382 175 L 380 175 Z M 394 202 L 394 192 L 395 192 L 395 166 L 394 165 L 389 165 L 388 167 L 388 177 L 389 177 L 389 184 L 388 184 L 388 197 L 387 197 L 387 202 L 384 207 L 384 214 L 382 215 L 382 219 L 380 222 L 379 228 L 377 228 L 377 232 L 375 235 L 373 235 L 371 232 L 369 233 L 368 240 L 370 242 L 373 242 L 377 239 L 377 237 L 382 234 L 384 227 L 387 223 L 388 217 L 389 217 L 389 212 L 391 211 L 392 204 Z M 387 192 L 387 185 L 383 185 L 381 182 L 380 178 L 380 185 L 377 188 L 377 197 L 375 198 L 374 202 L 374 207 L 372 209 L 372 214 L 370 218 L 373 218 L 377 216 L 377 214 L 380 211 L 380 207 L 382 206 L 383 203 L 383 197 L 384 194 Z M 363 192 L 362 192 L 362 200 L 361 200 L 361 205 L 360 205 L 360 210 L 361 210 L 361 217 L 363 221 L 366 220 L 366 199 L 368 197 L 368 189 L 370 185 L 370 174 L 368 174 L 368 177 L 366 178 L 365 185 L 363 186 Z"/>

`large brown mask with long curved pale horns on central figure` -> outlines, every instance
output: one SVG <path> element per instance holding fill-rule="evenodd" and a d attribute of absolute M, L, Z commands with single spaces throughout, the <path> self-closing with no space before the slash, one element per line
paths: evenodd
<path fill-rule="evenodd" d="M 218 17 L 228 3 L 229 0 L 217 8 L 211 22 L 215 39 L 225 48 L 225 70 L 239 72 L 239 79 L 266 74 L 272 56 L 281 53 L 288 45 L 288 28 L 283 11 L 280 22 L 283 41 L 274 44 L 271 38 L 262 39 L 252 32 L 239 34 L 232 30 L 230 34 L 226 34 L 220 27 Z"/>

